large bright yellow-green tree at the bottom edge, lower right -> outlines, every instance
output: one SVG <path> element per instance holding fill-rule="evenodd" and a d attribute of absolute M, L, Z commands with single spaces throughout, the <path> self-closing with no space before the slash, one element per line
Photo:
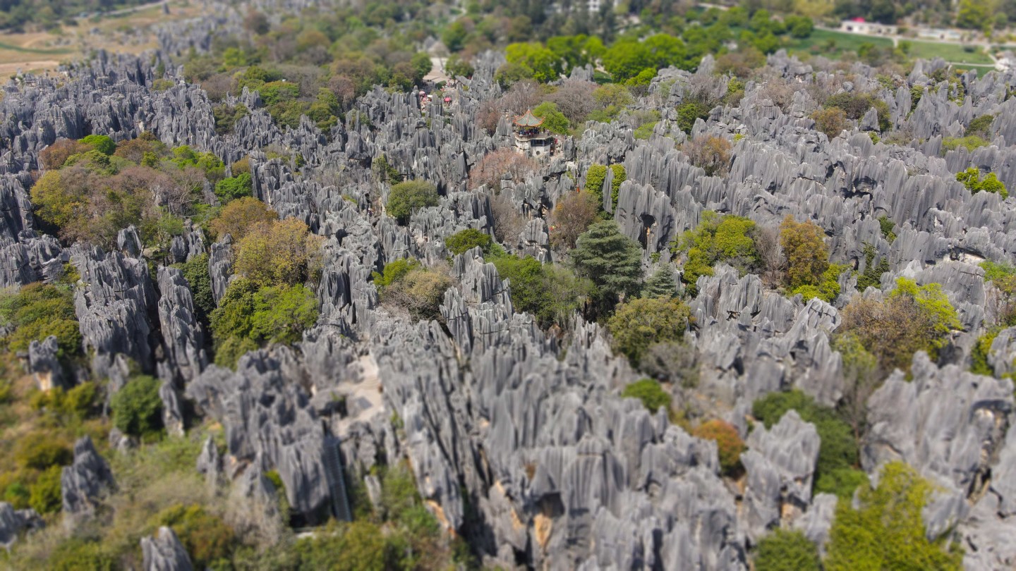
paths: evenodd
<path fill-rule="evenodd" d="M 929 541 L 920 512 L 932 485 L 902 462 L 882 468 L 879 487 L 862 488 L 860 509 L 840 500 L 826 546 L 826 571 L 960 569 L 962 554 L 947 540 Z"/>

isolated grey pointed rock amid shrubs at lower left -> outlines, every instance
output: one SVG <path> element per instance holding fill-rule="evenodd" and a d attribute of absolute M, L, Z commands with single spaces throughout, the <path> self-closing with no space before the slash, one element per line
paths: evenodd
<path fill-rule="evenodd" d="M 113 472 L 96 451 L 91 438 L 85 436 L 74 443 L 74 462 L 63 468 L 60 489 L 64 523 L 71 527 L 91 518 L 98 502 L 116 489 Z"/>

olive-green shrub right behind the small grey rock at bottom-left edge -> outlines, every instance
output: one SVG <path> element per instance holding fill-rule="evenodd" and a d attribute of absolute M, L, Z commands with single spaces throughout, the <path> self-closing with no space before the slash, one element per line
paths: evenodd
<path fill-rule="evenodd" d="M 155 516 L 155 525 L 173 528 L 196 569 L 212 567 L 233 550 L 233 529 L 197 504 L 177 504 L 163 510 Z"/>

